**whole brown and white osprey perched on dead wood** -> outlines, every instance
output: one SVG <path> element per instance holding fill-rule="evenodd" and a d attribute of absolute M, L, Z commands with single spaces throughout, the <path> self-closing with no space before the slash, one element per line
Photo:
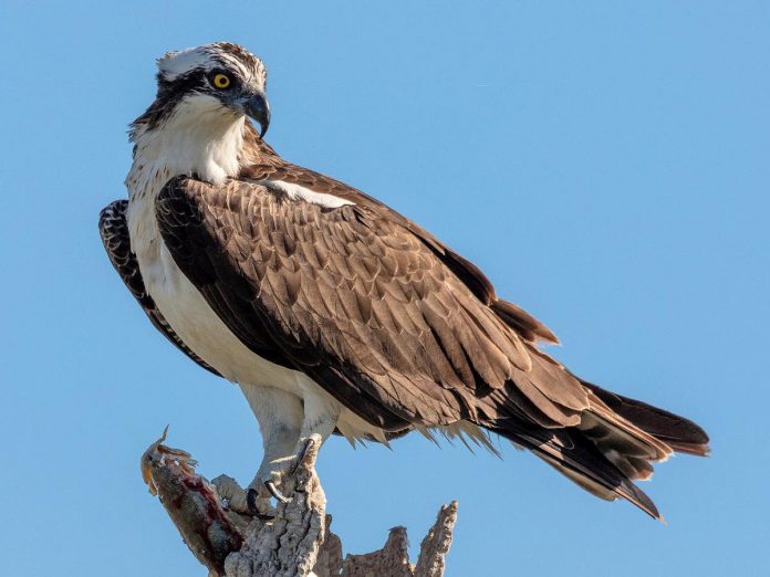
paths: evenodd
<path fill-rule="evenodd" d="M 128 200 L 100 219 L 153 325 L 243 391 L 264 444 L 249 485 L 260 503 L 284 499 L 311 439 L 417 430 L 491 447 L 491 432 L 659 518 L 633 481 L 675 451 L 707 454 L 704 430 L 576 377 L 539 348 L 555 336 L 472 263 L 278 156 L 262 139 L 266 77 L 231 43 L 159 59 L 157 97 L 131 126 Z"/>

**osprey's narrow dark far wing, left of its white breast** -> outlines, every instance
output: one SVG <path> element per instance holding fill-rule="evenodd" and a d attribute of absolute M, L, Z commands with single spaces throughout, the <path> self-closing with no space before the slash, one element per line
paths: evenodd
<path fill-rule="evenodd" d="M 181 338 L 168 325 L 160 311 L 155 306 L 155 301 L 145 290 L 136 255 L 131 251 L 131 238 L 128 237 L 128 225 L 126 223 L 127 207 L 127 200 L 116 200 L 107 204 L 98 216 L 98 232 L 104 243 L 104 250 L 107 251 L 107 256 L 110 256 L 110 262 L 117 271 L 117 274 L 121 275 L 131 294 L 139 303 L 153 326 L 198 365 L 220 376 L 214 367 L 185 345 Z"/>

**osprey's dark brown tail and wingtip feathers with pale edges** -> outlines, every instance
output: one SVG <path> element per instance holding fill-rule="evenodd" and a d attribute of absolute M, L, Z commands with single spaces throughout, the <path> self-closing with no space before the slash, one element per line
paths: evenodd
<path fill-rule="evenodd" d="M 653 463 L 672 453 L 707 455 L 708 436 L 693 421 L 581 380 L 590 408 L 575 427 L 549 429 L 510 417 L 487 424 L 529 449 L 594 495 L 625 499 L 663 520 L 653 501 L 633 481 L 649 479 Z"/>

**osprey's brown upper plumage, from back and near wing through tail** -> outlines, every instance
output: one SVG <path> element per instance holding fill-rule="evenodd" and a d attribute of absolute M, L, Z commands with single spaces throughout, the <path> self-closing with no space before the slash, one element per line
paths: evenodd
<path fill-rule="evenodd" d="M 218 186 L 173 179 L 156 203 L 175 262 L 241 342 L 386 431 L 471 422 L 659 517 L 633 480 L 674 450 L 697 453 L 700 428 L 580 380 L 537 348 L 555 336 L 475 265 L 363 192 L 253 146 L 270 161 Z"/>

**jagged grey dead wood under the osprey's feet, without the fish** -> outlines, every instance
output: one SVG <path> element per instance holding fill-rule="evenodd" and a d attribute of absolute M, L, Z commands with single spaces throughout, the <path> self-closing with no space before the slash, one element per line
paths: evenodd
<path fill-rule="evenodd" d="M 305 454 L 296 472 L 284 483 L 285 494 L 291 502 L 279 503 L 275 516 L 269 521 L 251 518 L 247 512 L 246 493 L 235 480 L 221 475 L 210 486 L 218 493 L 217 506 L 242 536 L 242 545 L 231 550 L 223 563 L 223 570 L 211 569 L 210 577 L 440 577 L 444 575 L 446 555 L 452 539 L 457 520 L 457 502 L 444 505 L 436 523 L 420 545 L 416 564 L 409 562 L 408 541 L 405 527 L 391 529 L 382 549 L 363 555 L 348 554 L 343 559 L 340 537 L 331 532 L 331 515 L 326 515 L 326 499 L 315 474 L 315 458 L 320 443 Z M 163 475 L 157 475 L 162 479 Z M 196 478 L 208 483 L 199 475 Z M 165 506 L 167 504 L 164 504 Z M 180 520 L 179 514 L 169 516 L 186 537 L 195 532 L 210 533 L 210 527 L 199 526 L 195 518 Z M 239 543 L 233 539 L 233 543 Z M 201 559 L 209 568 L 215 566 Z M 218 552 L 221 555 L 221 552 Z M 221 564 L 218 565 L 221 567 Z"/>

